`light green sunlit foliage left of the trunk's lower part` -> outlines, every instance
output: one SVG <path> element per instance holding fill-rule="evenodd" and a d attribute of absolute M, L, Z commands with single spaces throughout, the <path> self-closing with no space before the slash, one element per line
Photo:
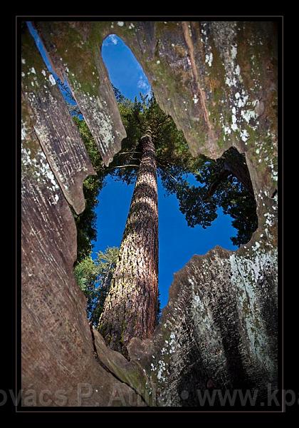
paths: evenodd
<path fill-rule="evenodd" d="M 99 251 L 95 260 L 87 256 L 74 268 L 75 279 L 87 299 L 88 319 L 95 326 L 98 325 L 105 298 L 110 290 L 118 251 L 116 247 L 108 247 L 105 253 Z"/>

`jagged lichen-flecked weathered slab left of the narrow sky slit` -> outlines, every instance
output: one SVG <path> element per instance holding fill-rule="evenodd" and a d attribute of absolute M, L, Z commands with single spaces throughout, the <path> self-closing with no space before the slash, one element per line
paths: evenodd
<path fill-rule="evenodd" d="M 66 200 L 76 213 L 82 213 L 85 208 L 82 183 L 95 171 L 55 79 L 28 31 L 22 34 L 21 83 L 22 140 L 27 132 L 34 133 Z M 26 140 L 29 158 L 33 158 L 30 139 Z"/>

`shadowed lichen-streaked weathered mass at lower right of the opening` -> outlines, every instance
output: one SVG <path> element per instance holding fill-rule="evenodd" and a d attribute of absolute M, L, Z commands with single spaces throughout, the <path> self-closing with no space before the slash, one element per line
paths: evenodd
<path fill-rule="evenodd" d="M 128 346 L 159 406 L 199 406 L 207 379 L 217 389 L 258 389 L 259 399 L 268 384 L 276 389 L 276 277 L 275 251 L 252 260 L 251 249 L 219 247 L 175 274 L 152 339 Z"/>

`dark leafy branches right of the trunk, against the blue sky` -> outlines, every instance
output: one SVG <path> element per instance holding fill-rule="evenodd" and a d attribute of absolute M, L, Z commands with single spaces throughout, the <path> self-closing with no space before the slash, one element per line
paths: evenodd
<path fill-rule="evenodd" d="M 258 218 L 244 156 L 231 148 L 216 161 L 201 156 L 194 161 L 194 166 L 193 173 L 199 182 L 196 186 L 190 185 L 182 175 L 177 177 L 177 183 L 164 180 L 167 193 L 177 195 L 179 209 L 188 225 L 209 227 L 221 207 L 224 214 L 231 215 L 232 225 L 237 230 L 236 237 L 231 238 L 232 243 L 237 246 L 248 243 L 258 227 Z"/>

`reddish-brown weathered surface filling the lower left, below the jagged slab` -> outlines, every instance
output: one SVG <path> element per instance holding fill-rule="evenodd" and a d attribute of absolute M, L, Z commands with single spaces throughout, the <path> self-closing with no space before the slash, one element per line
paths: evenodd
<path fill-rule="evenodd" d="M 73 277 L 73 215 L 38 140 L 28 138 L 38 166 L 28 161 L 22 170 L 22 404 L 143 405 L 93 356 L 85 296 Z"/>

